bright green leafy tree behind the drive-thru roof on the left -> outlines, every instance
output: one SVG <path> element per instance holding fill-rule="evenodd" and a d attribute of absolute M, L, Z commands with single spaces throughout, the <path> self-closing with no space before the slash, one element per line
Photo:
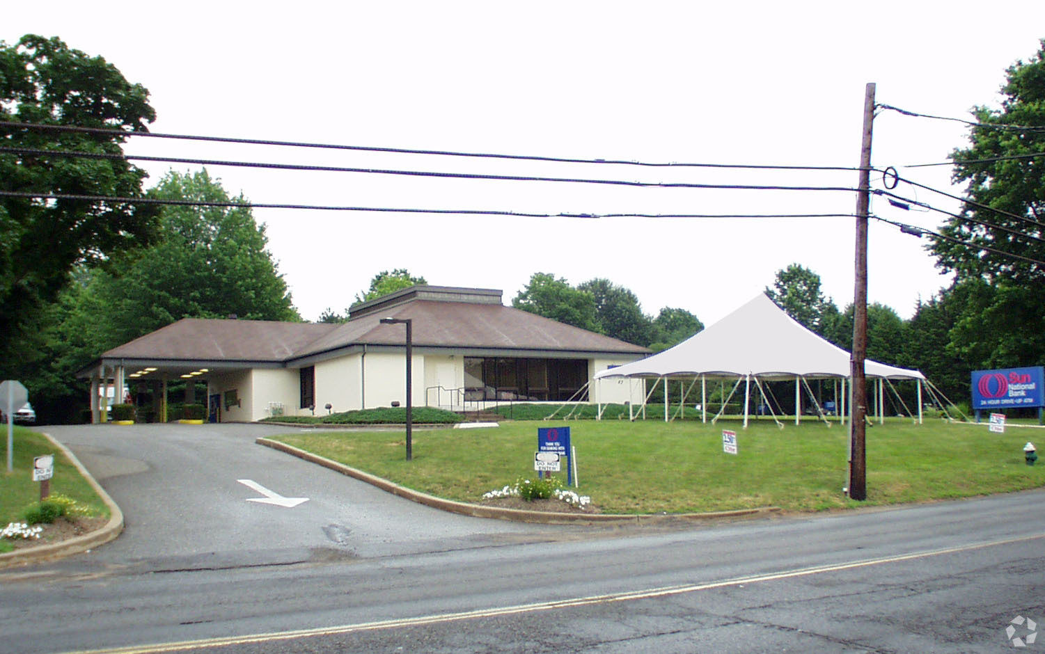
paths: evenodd
<path fill-rule="evenodd" d="M 229 202 L 205 170 L 169 172 L 149 194 Z M 37 358 L 26 386 L 42 418 L 74 418 L 61 415 L 72 398 L 86 399 L 73 376 L 98 354 L 182 318 L 300 320 L 265 243 L 247 207 L 165 206 L 154 244 L 118 255 L 108 270 L 77 267 L 26 341 Z"/>

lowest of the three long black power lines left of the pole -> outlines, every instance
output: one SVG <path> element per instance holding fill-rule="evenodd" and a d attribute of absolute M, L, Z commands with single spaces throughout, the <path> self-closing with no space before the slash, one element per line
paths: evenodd
<path fill-rule="evenodd" d="M 528 218 L 851 218 L 851 213 L 539 213 L 485 209 L 414 209 L 393 207 L 355 207 L 336 205 L 301 205 L 288 203 L 219 202 L 165 200 L 160 197 L 119 197 L 114 195 L 82 195 L 76 193 L 33 193 L 0 191 L 0 197 L 25 200 L 76 200 L 112 204 L 169 205 L 178 207 L 222 207 L 241 209 L 302 209 L 317 211 L 376 211 L 385 213 L 443 213 L 464 215 L 504 215 Z"/>

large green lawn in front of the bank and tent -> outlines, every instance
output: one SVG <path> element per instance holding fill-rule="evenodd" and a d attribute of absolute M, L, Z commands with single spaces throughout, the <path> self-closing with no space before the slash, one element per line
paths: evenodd
<path fill-rule="evenodd" d="M 508 421 L 496 428 L 414 433 L 404 461 L 402 433 L 316 433 L 275 437 L 295 447 L 409 488 L 462 501 L 536 474 L 537 428 L 562 422 Z M 867 500 L 842 494 L 847 483 L 844 425 L 812 421 L 780 429 L 771 420 L 574 421 L 580 493 L 605 513 L 682 513 L 775 506 L 790 511 L 891 505 L 1045 486 L 1045 466 L 1027 466 L 1023 445 L 1045 433 L 943 421 L 887 419 L 867 427 Z M 722 451 L 722 429 L 739 454 Z M 1041 435 L 1041 436 L 1039 436 Z M 1037 443 L 1036 443 L 1037 444 Z M 565 478 L 565 473 L 559 473 Z"/>

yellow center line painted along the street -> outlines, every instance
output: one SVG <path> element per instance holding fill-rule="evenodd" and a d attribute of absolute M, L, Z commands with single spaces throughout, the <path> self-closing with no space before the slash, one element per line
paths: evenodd
<path fill-rule="evenodd" d="M 280 640 L 293 640 L 296 638 L 307 638 L 312 636 L 334 636 L 349 634 L 359 631 L 376 631 L 380 629 L 398 629 L 403 627 L 417 627 L 423 625 L 435 625 L 440 623 L 451 623 L 464 620 L 475 620 L 479 617 L 497 617 L 502 615 L 515 615 L 518 613 L 533 613 L 537 611 L 549 611 L 562 608 L 573 608 L 580 606 L 590 606 L 595 604 L 609 604 L 613 602 L 633 602 L 636 600 L 649 600 L 664 598 L 675 594 L 697 592 L 700 590 L 712 590 L 725 586 L 736 586 L 739 584 L 754 584 L 777 579 L 793 579 L 796 577 L 808 577 L 823 573 L 836 573 L 870 565 L 881 565 L 883 563 L 898 563 L 934 557 L 944 554 L 955 554 L 958 552 L 970 552 L 982 550 L 997 545 L 1006 545 L 1027 540 L 1045 538 L 1045 534 L 1034 536 L 1021 536 L 1018 538 L 1007 538 L 1004 540 L 994 540 L 972 545 L 957 545 L 954 547 L 944 547 L 942 550 L 930 550 L 926 552 L 915 552 L 911 554 L 901 554 L 891 557 L 880 557 L 876 559 L 864 559 L 861 561 L 850 561 L 847 563 L 836 563 L 832 565 L 817 565 L 803 567 L 781 573 L 769 573 L 765 575 L 751 575 L 748 577 L 735 577 L 722 581 L 706 582 L 702 584 L 684 584 L 679 586 L 665 586 L 661 588 L 647 588 L 645 590 L 633 590 L 628 592 L 613 592 L 608 594 L 588 595 L 583 598 L 571 598 L 566 600 L 555 600 L 552 602 L 537 602 L 534 604 L 520 604 L 516 606 L 505 606 L 491 609 L 479 609 L 474 611 L 462 611 L 458 613 L 441 613 L 436 615 L 423 615 L 419 617 L 404 617 L 398 620 L 382 620 L 370 623 L 357 623 L 354 625 L 342 625 L 338 627 L 318 627 L 315 629 L 298 629 L 293 631 L 277 631 L 272 633 L 259 633 L 243 636 L 226 636 L 222 638 L 202 638 L 199 640 L 182 640 L 178 643 L 162 643 L 156 645 L 141 645 L 117 648 L 106 648 L 99 650 L 77 650 L 75 654 L 160 654 L 163 652 L 178 652 L 192 649 L 210 649 L 228 647 L 233 645 L 250 645 L 257 643 L 276 643 Z M 67 654 L 74 654 L 72 652 Z"/>

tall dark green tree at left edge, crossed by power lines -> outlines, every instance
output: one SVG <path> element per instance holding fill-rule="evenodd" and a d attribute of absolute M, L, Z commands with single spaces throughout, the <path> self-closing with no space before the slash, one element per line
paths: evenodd
<path fill-rule="evenodd" d="M 144 87 L 129 83 L 106 60 L 56 38 L 0 42 L 4 121 L 145 132 L 156 117 L 147 98 Z M 0 126 L 0 143 L 8 148 L 122 155 L 124 139 Z M 121 158 L 0 154 L 0 190 L 7 192 L 136 197 L 145 177 Z M 31 329 L 74 266 L 147 242 L 155 216 L 155 208 L 126 203 L 0 196 L 0 348 Z M 6 354 L 0 360 L 17 365 L 18 357 Z"/>

